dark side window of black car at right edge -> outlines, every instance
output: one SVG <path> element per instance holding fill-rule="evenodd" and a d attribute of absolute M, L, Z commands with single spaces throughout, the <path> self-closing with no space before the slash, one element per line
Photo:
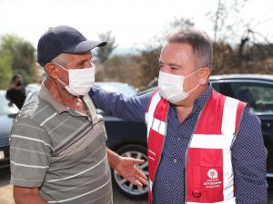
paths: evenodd
<path fill-rule="evenodd" d="M 234 97 L 248 104 L 255 112 L 273 112 L 273 84 L 230 83 Z"/>

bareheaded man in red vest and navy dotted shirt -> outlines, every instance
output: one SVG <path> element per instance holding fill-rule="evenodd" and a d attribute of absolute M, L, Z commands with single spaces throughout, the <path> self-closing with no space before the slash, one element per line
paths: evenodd
<path fill-rule="evenodd" d="M 156 92 L 90 92 L 100 109 L 147 122 L 150 203 L 268 203 L 260 121 L 213 90 L 211 63 L 207 34 L 180 30 L 161 50 Z"/>

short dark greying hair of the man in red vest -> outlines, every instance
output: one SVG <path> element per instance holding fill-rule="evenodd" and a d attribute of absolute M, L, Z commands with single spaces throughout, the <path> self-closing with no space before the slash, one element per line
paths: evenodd
<path fill-rule="evenodd" d="M 177 30 L 167 35 L 169 44 L 189 44 L 197 57 L 197 68 L 207 66 L 212 68 L 212 44 L 205 32 L 196 30 Z"/>

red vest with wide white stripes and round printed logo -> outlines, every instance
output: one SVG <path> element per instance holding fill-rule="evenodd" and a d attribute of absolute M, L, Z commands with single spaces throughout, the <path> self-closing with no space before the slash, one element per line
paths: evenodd
<path fill-rule="evenodd" d="M 186 153 L 185 203 L 236 203 L 230 148 L 245 105 L 215 91 L 207 100 Z M 167 133 L 168 107 L 159 92 L 152 94 L 146 114 L 150 204 Z"/>

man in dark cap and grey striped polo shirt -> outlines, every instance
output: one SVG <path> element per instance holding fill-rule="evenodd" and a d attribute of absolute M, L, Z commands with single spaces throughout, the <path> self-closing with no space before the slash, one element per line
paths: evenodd
<path fill-rule="evenodd" d="M 106 150 L 103 118 L 86 94 L 95 82 L 89 41 L 69 26 L 50 28 L 37 47 L 46 80 L 19 112 L 11 134 L 15 203 L 112 203 L 108 165 L 136 185 L 143 160 Z"/>

